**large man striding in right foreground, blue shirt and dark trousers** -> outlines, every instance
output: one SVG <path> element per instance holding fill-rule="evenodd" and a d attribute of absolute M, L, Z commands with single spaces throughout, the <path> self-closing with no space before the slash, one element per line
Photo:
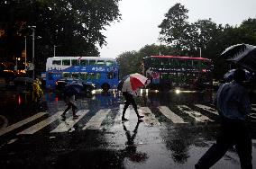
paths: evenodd
<path fill-rule="evenodd" d="M 222 84 L 216 93 L 215 105 L 221 117 L 221 127 L 216 143 L 210 147 L 197 164 L 196 169 L 215 165 L 227 150 L 235 146 L 242 169 L 252 169 L 251 136 L 245 124 L 246 115 L 251 111 L 248 91 L 242 86 L 245 71 L 236 69 L 233 81 Z"/>

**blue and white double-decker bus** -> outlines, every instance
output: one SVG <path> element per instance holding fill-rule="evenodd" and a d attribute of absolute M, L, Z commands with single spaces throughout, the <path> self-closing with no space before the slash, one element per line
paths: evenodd
<path fill-rule="evenodd" d="M 46 87 L 79 79 L 96 89 L 115 89 L 118 84 L 118 66 L 114 58 L 53 57 L 46 63 Z"/>

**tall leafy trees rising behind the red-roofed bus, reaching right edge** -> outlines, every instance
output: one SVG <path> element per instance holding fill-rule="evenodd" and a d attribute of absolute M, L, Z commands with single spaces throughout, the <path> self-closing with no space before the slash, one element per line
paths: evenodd
<path fill-rule="evenodd" d="M 188 10 L 181 4 L 175 4 L 165 14 L 160 23 L 160 41 L 178 49 L 178 55 L 210 58 L 214 63 L 214 76 L 221 78 L 235 66 L 218 58 L 224 49 L 239 43 L 256 45 L 256 19 L 248 19 L 239 27 L 228 24 L 217 25 L 211 19 L 187 22 Z"/>

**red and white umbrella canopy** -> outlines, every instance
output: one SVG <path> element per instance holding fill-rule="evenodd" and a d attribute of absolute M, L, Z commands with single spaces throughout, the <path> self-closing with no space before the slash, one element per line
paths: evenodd
<path fill-rule="evenodd" d="M 131 74 L 129 76 L 125 76 L 123 80 L 120 82 L 122 85 L 122 92 L 133 92 L 137 90 L 139 87 L 142 87 L 147 82 L 147 77 L 142 76 L 141 74 Z"/>

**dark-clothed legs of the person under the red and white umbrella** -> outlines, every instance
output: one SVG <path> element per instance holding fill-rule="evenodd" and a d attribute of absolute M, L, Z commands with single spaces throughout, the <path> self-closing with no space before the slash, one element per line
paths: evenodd
<path fill-rule="evenodd" d="M 123 107 L 123 115 L 122 115 L 122 120 L 127 120 L 124 118 L 124 114 L 125 114 L 125 111 L 126 109 L 128 108 L 128 106 L 130 104 L 133 105 L 133 108 L 134 108 L 134 111 L 136 112 L 137 114 L 137 117 L 138 117 L 138 120 L 141 120 L 144 116 L 141 116 L 138 112 L 138 109 L 137 109 L 137 104 L 136 102 L 134 101 L 133 99 L 133 93 L 129 93 L 129 92 L 123 92 L 123 96 L 125 98 L 125 103 L 124 103 L 124 107 Z"/>

